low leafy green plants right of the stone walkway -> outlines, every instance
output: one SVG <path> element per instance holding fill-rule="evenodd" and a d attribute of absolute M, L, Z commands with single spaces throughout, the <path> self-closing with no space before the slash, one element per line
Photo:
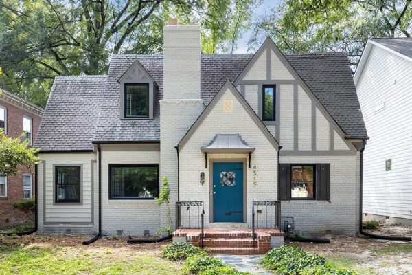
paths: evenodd
<path fill-rule="evenodd" d="M 260 260 L 266 270 L 282 275 L 355 275 L 349 270 L 336 269 L 325 258 L 304 252 L 301 248 L 281 246 L 264 254 Z"/>

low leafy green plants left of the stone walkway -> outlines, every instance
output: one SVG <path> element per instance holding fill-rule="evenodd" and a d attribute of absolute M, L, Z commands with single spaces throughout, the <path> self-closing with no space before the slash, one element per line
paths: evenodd
<path fill-rule="evenodd" d="M 173 261 L 184 260 L 183 274 L 200 275 L 247 275 L 247 272 L 240 272 L 235 267 L 225 265 L 222 261 L 207 255 L 205 250 L 201 250 L 190 243 L 171 243 L 163 248 L 162 256 Z"/>

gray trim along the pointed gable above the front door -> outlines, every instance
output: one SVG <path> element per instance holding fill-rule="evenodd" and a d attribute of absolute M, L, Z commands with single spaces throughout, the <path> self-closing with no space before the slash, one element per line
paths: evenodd
<path fill-rule="evenodd" d="M 242 94 L 240 94 L 240 92 L 238 91 L 238 89 L 236 89 L 236 87 L 233 85 L 233 83 L 231 83 L 230 80 L 227 80 L 226 83 L 220 88 L 220 90 L 218 91 L 218 94 L 216 94 L 216 96 L 213 98 L 213 100 L 211 100 L 211 102 L 209 103 L 209 105 L 207 105 L 206 109 L 203 110 L 203 112 L 201 113 L 201 115 L 199 115 L 199 117 L 197 118 L 197 120 L 194 122 L 194 124 L 192 124 L 192 126 L 190 127 L 190 129 L 187 131 L 187 133 L 185 133 L 185 135 L 183 136 L 183 138 L 181 139 L 181 141 L 179 142 L 179 144 L 177 145 L 179 150 L 181 148 L 183 148 L 183 146 L 185 146 L 186 142 L 190 139 L 190 137 L 192 137 L 192 135 L 194 134 L 194 132 L 196 132 L 196 129 L 198 129 L 198 126 L 200 126 L 203 122 L 203 120 L 205 120 L 205 118 L 207 117 L 207 115 L 210 113 L 210 111 L 216 106 L 216 103 L 220 100 L 220 98 L 222 98 L 223 94 L 225 94 L 225 91 L 230 90 L 233 95 L 236 97 L 236 99 L 239 100 L 240 104 L 242 105 L 242 107 L 244 107 L 244 109 L 247 111 L 247 113 L 250 115 L 250 117 L 252 118 L 252 120 L 258 125 L 258 127 L 260 128 L 260 130 L 262 131 L 262 133 L 265 135 L 265 137 L 268 139 L 269 142 L 271 142 L 271 144 L 273 145 L 273 147 L 276 148 L 277 151 L 279 151 L 279 142 L 277 142 L 277 140 L 275 139 L 275 137 L 273 137 L 273 135 L 271 134 L 271 132 L 266 128 L 266 126 L 264 125 L 264 123 L 262 122 L 262 120 L 260 120 L 260 118 L 258 117 L 258 115 L 255 113 L 255 111 L 253 111 L 252 107 L 249 105 L 249 103 L 244 99 L 244 97 L 242 96 Z"/>

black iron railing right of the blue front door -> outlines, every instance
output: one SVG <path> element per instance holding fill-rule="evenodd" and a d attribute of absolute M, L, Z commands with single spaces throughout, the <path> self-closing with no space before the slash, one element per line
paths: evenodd
<path fill-rule="evenodd" d="M 252 235 L 255 228 L 280 228 L 280 201 L 252 201 Z"/>

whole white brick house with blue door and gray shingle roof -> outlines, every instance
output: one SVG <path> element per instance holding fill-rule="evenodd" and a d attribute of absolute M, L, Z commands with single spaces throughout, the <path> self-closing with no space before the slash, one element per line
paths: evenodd
<path fill-rule="evenodd" d="M 284 56 L 271 39 L 201 54 L 199 26 L 166 25 L 163 54 L 56 77 L 35 142 L 38 231 L 155 234 L 168 177 L 173 222 L 176 201 L 203 201 L 206 228 L 250 227 L 252 201 L 281 201 L 304 234 L 354 235 L 366 137 L 345 54 Z"/>

